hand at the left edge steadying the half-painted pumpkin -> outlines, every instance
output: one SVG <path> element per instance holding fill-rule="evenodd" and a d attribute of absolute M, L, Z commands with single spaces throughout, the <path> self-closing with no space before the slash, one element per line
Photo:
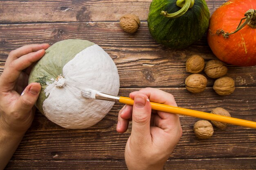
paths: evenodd
<path fill-rule="evenodd" d="M 4 65 L 0 76 L 0 169 L 8 163 L 33 121 L 32 107 L 41 86 L 27 85 L 29 66 L 42 58 L 48 47 L 49 44 L 34 44 L 13 50 Z"/>

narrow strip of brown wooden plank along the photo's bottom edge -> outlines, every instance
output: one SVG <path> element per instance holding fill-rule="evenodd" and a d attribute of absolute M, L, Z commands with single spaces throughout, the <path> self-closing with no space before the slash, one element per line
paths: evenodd
<path fill-rule="evenodd" d="M 35 169 L 49 170 L 49 169 L 86 169 L 86 170 L 126 170 L 126 164 L 124 160 L 110 161 L 110 160 L 99 160 L 99 161 L 54 161 L 54 160 L 11 160 L 6 170 L 27 170 L 31 167 Z M 189 160 L 173 160 L 169 159 L 164 166 L 164 169 L 171 170 L 252 170 L 256 168 L 256 158 L 242 158 L 242 159 L 189 159 Z"/>

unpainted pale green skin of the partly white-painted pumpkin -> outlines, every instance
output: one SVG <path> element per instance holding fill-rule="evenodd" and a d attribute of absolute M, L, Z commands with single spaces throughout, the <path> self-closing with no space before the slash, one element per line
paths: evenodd
<path fill-rule="evenodd" d="M 61 75 L 62 69 L 68 61 L 73 59 L 77 53 L 92 45 L 94 45 L 94 43 L 87 40 L 67 39 L 58 41 L 45 50 L 44 57 L 36 63 L 29 75 L 29 83 L 37 82 L 42 86 L 42 90 L 35 105 L 43 115 L 45 114 L 42 106 L 44 100 L 47 98 L 44 92 L 47 87 L 47 82 L 51 82 L 53 76 L 56 78 L 58 75 Z"/>

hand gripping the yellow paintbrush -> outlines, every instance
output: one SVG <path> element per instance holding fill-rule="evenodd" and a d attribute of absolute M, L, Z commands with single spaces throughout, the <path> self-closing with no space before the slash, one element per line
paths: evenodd
<path fill-rule="evenodd" d="M 125 148 L 126 165 L 129 170 L 162 169 L 182 136 L 182 128 L 177 114 L 151 110 L 149 100 L 177 106 L 175 99 L 153 88 L 132 92 L 130 98 L 134 105 L 125 105 L 119 111 L 117 123 L 117 131 L 124 133 L 132 119 L 132 132 Z"/>

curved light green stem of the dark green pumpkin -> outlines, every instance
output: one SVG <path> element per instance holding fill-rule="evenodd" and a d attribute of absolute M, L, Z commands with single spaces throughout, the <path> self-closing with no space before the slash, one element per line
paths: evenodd
<path fill-rule="evenodd" d="M 193 7 L 193 3 L 194 2 L 195 2 L 194 0 L 185 0 L 184 6 L 179 11 L 177 11 L 175 13 L 168 13 L 167 11 L 162 11 L 161 15 L 164 15 L 165 17 L 169 17 L 169 18 L 180 17 L 180 16 L 184 15 L 184 13 L 186 13 L 186 11 L 188 11 L 188 9 L 190 8 L 191 4 L 192 4 L 191 7 Z M 181 1 L 180 0 L 178 0 L 176 2 L 176 4 L 177 4 L 177 6 L 181 7 Z"/>

